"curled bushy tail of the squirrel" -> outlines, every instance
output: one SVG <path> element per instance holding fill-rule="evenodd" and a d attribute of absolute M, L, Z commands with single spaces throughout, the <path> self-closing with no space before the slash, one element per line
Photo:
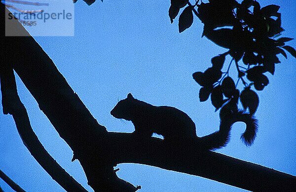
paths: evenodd
<path fill-rule="evenodd" d="M 200 145 L 206 150 L 219 149 L 224 147 L 229 140 L 229 131 L 235 122 L 244 122 L 246 130 L 241 135 L 241 139 L 247 146 L 253 144 L 258 128 L 257 120 L 253 115 L 245 113 L 245 111 L 237 111 L 230 113 L 224 117 L 220 123 L 219 131 L 199 138 Z"/>

